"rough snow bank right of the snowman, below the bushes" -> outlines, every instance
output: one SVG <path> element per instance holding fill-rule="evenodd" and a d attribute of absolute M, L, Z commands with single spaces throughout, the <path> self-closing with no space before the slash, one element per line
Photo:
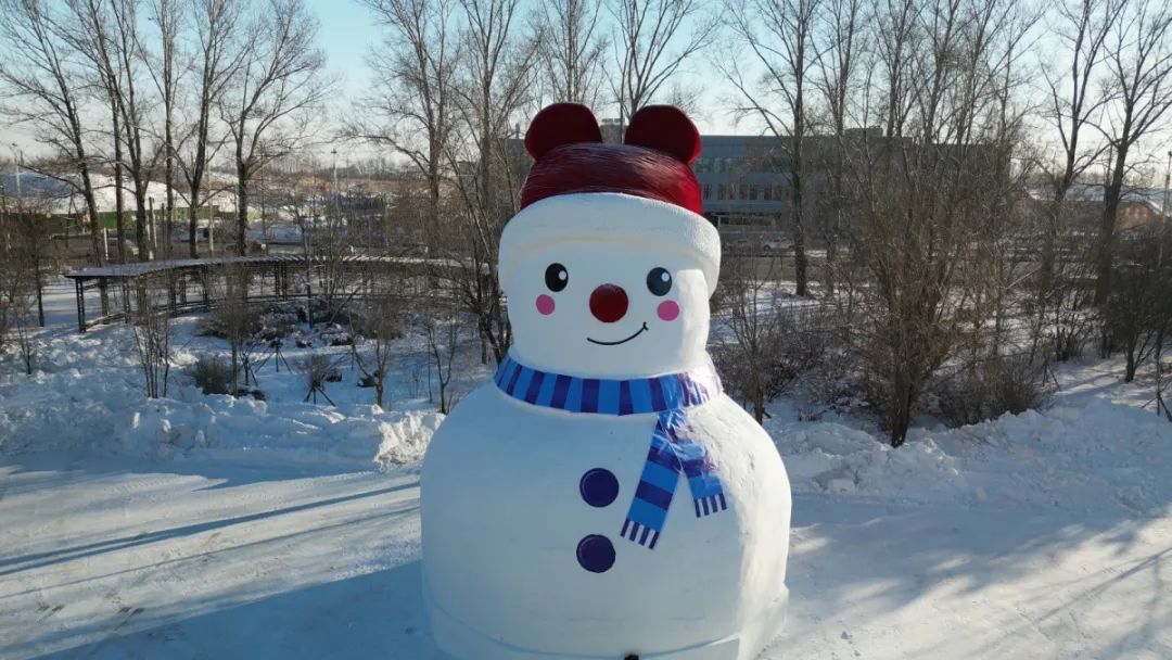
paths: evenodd
<path fill-rule="evenodd" d="M 766 422 L 797 492 L 899 502 L 1157 515 L 1172 503 L 1172 424 L 1102 399 L 885 438 L 830 422 Z"/>

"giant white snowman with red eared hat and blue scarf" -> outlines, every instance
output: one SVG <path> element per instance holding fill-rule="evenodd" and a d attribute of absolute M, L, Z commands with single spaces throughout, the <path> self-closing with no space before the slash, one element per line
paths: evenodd
<path fill-rule="evenodd" d="M 704 351 L 720 237 L 700 136 L 648 107 L 533 120 L 500 238 L 515 345 L 422 475 L 423 590 L 461 660 L 748 660 L 786 603 L 790 485 Z"/>

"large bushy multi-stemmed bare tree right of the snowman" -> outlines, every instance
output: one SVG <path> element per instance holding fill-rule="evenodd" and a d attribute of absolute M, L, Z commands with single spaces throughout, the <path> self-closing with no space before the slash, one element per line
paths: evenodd
<path fill-rule="evenodd" d="M 1007 113 L 1004 89 L 1029 25 L 1009 0 L 929 0 L 897 8 L 905 14 L 915 39 L 874 34 L 880 73 L 900 72 L 879 76 L 878 93 L 899 95 L 878 108 L 888 137 L 868 135 L 851 156 L 851 254 L 865 284 L 839 301 L 894 447 L 929 376 L 962 345 L 962 320 L 979 312 L 987 213 L 1004 212 L 1021 185 L 1006 163 L 1020 118 Z M 873 30 L 888 28 L 880 20 Z"/>

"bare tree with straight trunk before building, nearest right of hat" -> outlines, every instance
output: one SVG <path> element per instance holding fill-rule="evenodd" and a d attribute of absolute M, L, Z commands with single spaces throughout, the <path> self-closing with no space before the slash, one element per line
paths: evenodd
<path fill-rule="evenodd" d="M 788 157 L 790 240 L 797 294 L 809 294 L 805 251 L 805 143 L 809 127 L 806 86 L 818 61 L 815 19 L 820 0 L 735 0 L 729 4 L 729 26 L 748 47 L 761 72 L 757 82 L 745 80 L 740 57 L 722 63 L 747 106 L 742 113 L 761 118 L 781 141 Z"/>

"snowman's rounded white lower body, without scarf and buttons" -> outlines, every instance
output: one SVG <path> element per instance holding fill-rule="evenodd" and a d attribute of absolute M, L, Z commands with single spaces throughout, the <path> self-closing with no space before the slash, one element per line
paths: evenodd
<path fill-rule="evenodd" d="M 785 469 L 727 396 L 689 422 L 729 509 L 697 518 L 681 483 L 649 550 L 620 531 L 654 415 L 548 410 L 491 383 L 462 401 L 423 471 L 424 590 L 441 648 L 484 660 L 754 658 L 784 613 Z M 619 490 L 598 506 L 582 479 L 600 469 Z M 600 573 L 579 563 L 591 536 L 613 544 L 614 564 Z"/>

